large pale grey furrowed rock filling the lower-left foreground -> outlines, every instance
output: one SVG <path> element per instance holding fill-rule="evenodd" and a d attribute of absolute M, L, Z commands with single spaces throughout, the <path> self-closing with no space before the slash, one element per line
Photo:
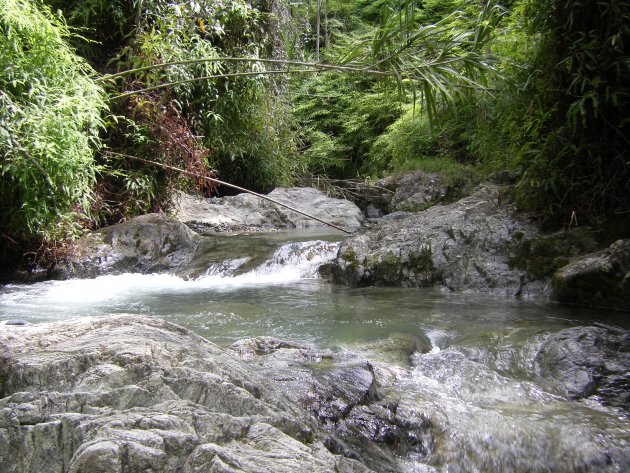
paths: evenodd
<path fill-rule="evenodd" d="M 386 472 L 431 445 L 425 420 L 370 407 L 356 355 L 224 350 L 129 315 L 5 326 L 0 345 L 3 472 Z"/>

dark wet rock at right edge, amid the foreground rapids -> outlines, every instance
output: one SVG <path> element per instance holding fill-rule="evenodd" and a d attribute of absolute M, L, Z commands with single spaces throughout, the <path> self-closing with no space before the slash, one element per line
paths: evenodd
<path fill-rule="evenodd" d="M 604 404 L 630 410 L 630 331 L 574 327 L 546 335 L 534 366 L 534 373 L 551 378 L 562 395 L 595 395 Z"/>

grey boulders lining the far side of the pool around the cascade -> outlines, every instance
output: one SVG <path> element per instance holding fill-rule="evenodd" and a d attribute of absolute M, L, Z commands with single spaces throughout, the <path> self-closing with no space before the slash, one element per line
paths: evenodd
<path fill-rule="evenodd" d="M 407 181 L 401 179 L 404 192 L 387 194 L 392 202 L 381 202 L 383 208 L 407 208 L 400 206 L 412 201 L 428 205 L 431 196 L 446 192 L 434 189 L 434 179 L 417 180 L 420 189 L 410 189 Z M 428 194 L 422 190 L 426 185 Z M 355 204 L 315 189 L 278 189 L 271 195 L 353 232 L 336 260 L 322 268 L 336 283 L 443 287 L 630 309 L 630 239 L 602 243 L 606 238 L 586 227 L 543 233 L 516 211 L 509 186 L 485 184 L 453 203 L 419 212 L 396 210 L 367 225 Z M 145 215 L 84 237 L 53 276 L 171 272 L 195 277 L 221 258 L 224 243 L 213 237 L 317 225 L 322 223 L 251 195 L 180 195 L 174 217 Z M 247 248 L 242 251 L 255 258 Z"/>

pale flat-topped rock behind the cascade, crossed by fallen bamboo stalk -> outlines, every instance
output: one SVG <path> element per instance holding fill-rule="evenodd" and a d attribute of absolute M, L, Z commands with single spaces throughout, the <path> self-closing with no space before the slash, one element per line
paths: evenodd
<path fill-rule="evenodd" d="M 352 202 L 327 197 L 310 187 L 278 188 L 269 197 L 342 228 L 361 225 Z M 175 216 L 200 233 L 322 226 L 321 222 L 251 194 L 202 199 L 180 193 Z"/>

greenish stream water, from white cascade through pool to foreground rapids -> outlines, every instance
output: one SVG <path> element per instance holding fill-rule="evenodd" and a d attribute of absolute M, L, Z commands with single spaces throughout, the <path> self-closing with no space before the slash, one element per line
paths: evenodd
<path fill-rule="evenodd" d="M 597 322 L 629 328 L 627 314 L 434 289 L 341 287 L 317 276 L 339 236 L 223 238 L 225 254 L 195 279 L 122 274 L 4 286 L 0 321 L 135 313 L 223 346 L 267 335 L 375 357 L 370 347 L 379 341 L 416 337 L 425 353 L 400 366 L 376 360 L 398 373 L 392 389 L 400 405 L 441 432 L 430 458 L 406 460 L 409 472 L 630 471 L 624 413 L 597 399 L 566 399 L 530 366 L 544 334 Z"/>

